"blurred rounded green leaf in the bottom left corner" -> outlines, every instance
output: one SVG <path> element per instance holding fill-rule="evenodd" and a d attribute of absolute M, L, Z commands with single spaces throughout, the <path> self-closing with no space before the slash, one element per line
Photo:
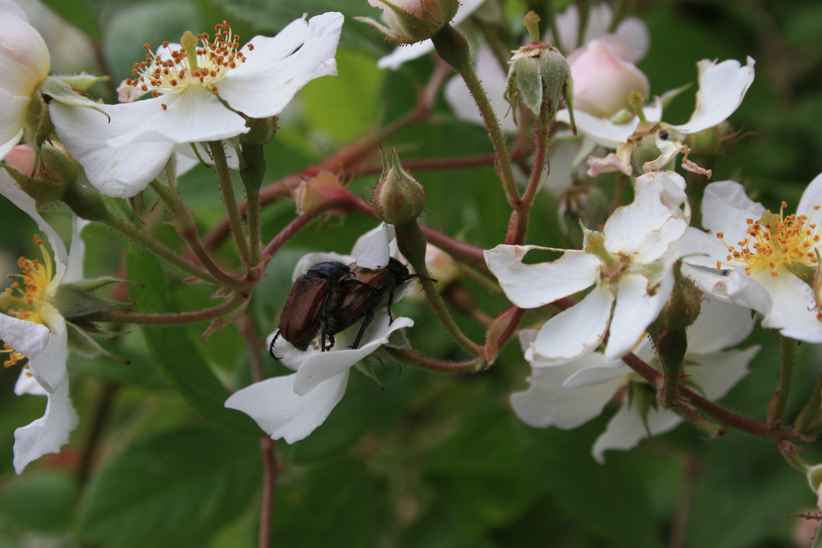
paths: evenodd
<path fill-rule="evenodd" d="M 72 521 L 76 480 L 49 472 L 20 478 L 0 495 L 0 518 L 26 531 L 59 532 Z"/>

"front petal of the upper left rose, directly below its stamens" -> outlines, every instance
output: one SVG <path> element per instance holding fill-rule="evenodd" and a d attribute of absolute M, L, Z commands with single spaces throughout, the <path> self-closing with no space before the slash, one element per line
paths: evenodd
<path fill-rule="evenodd" d="M 166 94 L 142 102 L 151 104 L 146 112 L 148 117 L 130 131 L 107 140 L 107 145 L 119 148 L 140 142 L 196 143 L 249 131 L 245 118 L 225 108 L 217 95 L 200 85 L 190 85 L 176 96 Z M 167 108 L 164 110 L 160 104 Z"/>

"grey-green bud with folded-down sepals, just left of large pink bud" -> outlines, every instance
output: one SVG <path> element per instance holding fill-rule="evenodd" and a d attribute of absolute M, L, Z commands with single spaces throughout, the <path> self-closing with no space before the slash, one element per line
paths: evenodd
<path fill-rule="evenodd" d="M 570 68 L 558 49 L 542 42 L 532 42 L 518 49 L 510 58 L 506 99 L 511 105 L 514 119 L 517 101 L 522 99 L 534 116 L 547 124 L 559 110 L 562 99 L 566 99 L 569 110 L 572 108 L 570 96 Z"/>

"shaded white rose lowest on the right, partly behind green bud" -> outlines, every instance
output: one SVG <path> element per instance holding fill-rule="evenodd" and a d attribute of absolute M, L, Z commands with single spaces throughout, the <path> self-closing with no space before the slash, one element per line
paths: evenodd
<path fill-rule="evenodd" d="M 723 350 L 744 341 L 754 328 L 748 309 L 727 305 L 716 299 L 702 303 L 700 316 L 688 328 L 688 352 L 683 372 L 686 382 L 694 383 L 706 398 L 722 398 L 748 374 L 748 364 L 760 351 L 760 346 L 745 350 Z M 533 344 L 536 331 L 523 329 L 520 341 L 523 349 Z M 659 359 L 650 338 L 646 337 L 635 351 L 649 365 L 660 369 Z M 583 425 L 603 412 L 606 404 L 621 392 L 621 408 L 606 431 L 593 444 L 593 458 L 604 463 L 607 449 L 632 449 L 648 435 L 660 435 L 673 430 L 682 418 L 673 410 L 651 405 L 643 409 L 640 396 L 631 401 L 630 390 L 647 389 L 643 394 L 652 398 L 653 387 L 621 360 L 608 360 L 599 352 L 559 365 L 546 363 L 541 357 L 529 358 L 531 376 L 529 389 L 511 395 L 511 407 L 530 426 L 556 426 L 570 430 Z M 631 386 L 632 385 L 632 386 Z"/>

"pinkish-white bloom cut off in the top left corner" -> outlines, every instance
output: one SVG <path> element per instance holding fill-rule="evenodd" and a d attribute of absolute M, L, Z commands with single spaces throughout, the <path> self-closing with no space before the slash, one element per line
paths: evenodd
<path fill-rule="evenodd" d="M 20 142 L 35 90 L 51 58 L 43 37 L 12 0 L 0 0 L 0 159 Z"/>

